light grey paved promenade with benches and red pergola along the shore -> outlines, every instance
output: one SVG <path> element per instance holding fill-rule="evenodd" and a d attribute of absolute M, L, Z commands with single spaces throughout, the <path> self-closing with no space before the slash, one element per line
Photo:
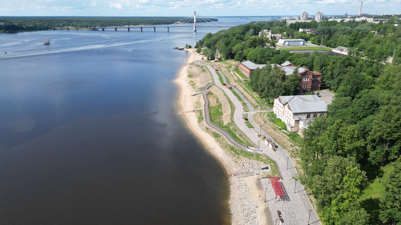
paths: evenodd
<path fill-rule="evenodd" d="M 264 134 L 266 137 L 271 138 L 263 129 L 261 129 L 254 121 L 253 121 L 253 112 L 244 112 L 242 103 L 237 100 L 237 97 L 229 90 L 226 86 L 223 86 L 220 83 L 219 76 L 216 74 L 215 70 L 212 66 L 202 64 L 201 62 L 195 62 L 196 64 L 200 64 L 206 66 L 212 74 L 213 80 L 217 87 L 221 88 L 231 100 L 233 105 L 235 106 L 235 110 L 233 112 L 233 121 L 235 125 L 251 140 L 255 146 L 260 145 L 260 150 L 263 151 L 264 155 L 267 155 L 271 159 L 275 160 L 278 165 L 279 171 L 281 171 L 283 179 L 280 180 L 284 189 L 286 190 L 286 201 L 277 201 L 275 203 L 275 194 L 271 184 L 269 184 L 268 179 L 262 179 L 261 183 L 263 185 L 263 189 L 266 192 L 266 200 L 269 205 L 269 210 L 272 215 L 273 223 L 275 223 L 277 216 L 277 210 L 281 211 L 282 218 L 285 224 L 291 225 L 299 225 L 299 224 L 308 224 L 309 213 L 310 213 L 310 221 L 309 224 L 321 225 L 321 222 L 316 215 L 315 210 L 312 207 L 312 204 L 309 201 L 309 198 L 306 196 L 306 192 L 304 191 L 303 186 L 299 181 L 295 181 L 292 177 L 296 176 L 298 173 L 292 159 L 281 146 L 276 143 L 277 151 L 273 151 L 271 148 L 267 147 L 267 145 L 262 142 L 262 140 L 258 137 L 258 134 Z M 227 80 L 222 72 L 221 74 L 223 81 L 227 83 Z M 253 111 L 253 106 L 249 103 L 249 101 L 243 96 L 241 92 L 239 92 L 236 88 L 234 88 L 235 92 L 239 94 L 239 96 L 244 100 L 245 104 L 247 104 L 250 111 Z M 243 119 L 243 113 L 248 114 L 248 119 L 255 127 L 255 129 L 248 128 Z M 262 127 L 263 128 L 263 127 Z M 272 138 L 271 138 L 272 139 Z M 272 139 L 273 140 L 273 139 Z M 296 183 L 296 185 L 295 185 Z M 295 192 L 295 193 L 294 193 Z M 289 200 L 289 201 L 288 201 Z M 279 221 L 278 221 L 279 222 Z"/>

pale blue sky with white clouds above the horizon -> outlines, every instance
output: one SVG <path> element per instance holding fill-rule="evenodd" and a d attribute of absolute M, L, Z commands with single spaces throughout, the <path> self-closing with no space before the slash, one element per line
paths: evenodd
<path fill-rule="evenodd" d="M 1 0 L 0 16 L 355 15 L 356 0 Z M 364 0 L 362 13 L 401 14 L 401 0 Z"/>

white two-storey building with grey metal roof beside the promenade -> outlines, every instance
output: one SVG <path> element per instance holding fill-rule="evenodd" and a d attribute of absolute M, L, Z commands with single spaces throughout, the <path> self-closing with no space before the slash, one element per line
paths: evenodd
<path fill-rule="evenodd" d="M 302 133 L 304 124 L 326 113 L 327 106 L 317 95 L 278 96 L 274 99 L 273 112 L 287 125 L 290 132 Z M 301 129 L 300 129 L 300 122 Z M 301 134 L 302 135 L 302 134 Z"/>

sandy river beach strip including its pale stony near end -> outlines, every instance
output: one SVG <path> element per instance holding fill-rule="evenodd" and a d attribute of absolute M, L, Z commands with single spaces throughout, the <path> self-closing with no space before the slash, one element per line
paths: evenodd
<path fill-rule="evenodd" d="M 227 151 L 227 141 L 224 137 L 215 139 L 210 133 L 210 128 L 204 121 L 198 123 L 197 110 L 202 110 L 204 101 L 202 94 L 191 96 L 198 92 L 206 84 L 212 82 L 211 74 L 200 66 L 191 64 L 201 60 L 202 55 L 196 53 L 196 49 L 186 49 L 190 56 L 183 62 L 183 66 L 174 82 L 178 84 L 180 92 L 177 99 L 178 114 L 182 116 L 189 129 L 201 140 L 206 149 L 213 154 L 227 173 L 230 180 L 229 209 L 231 224 L 272 224 L 268 219 L 267 204 L 264 202 L 264 193 L 257 179 L 258 169 L 263 163 L 251 161 L 244 157 L 233 155 Z M 223 99 L 222 92 L 218 88 L 211 88 L 219 99 Z M 228 104 L 228 103 L 227 103 Z M 229 108 L 229 107 L 226 107 Z M 195 112 L 193 112 L 193 110 Z M 223 108 L 223 110 L 225 110 Z M 202 113 L 203 112 L 202 110 Z M 229 112 L 228 114 L 231 114 Z M 204 118 L 204 117 L 203 117 Z"/>

